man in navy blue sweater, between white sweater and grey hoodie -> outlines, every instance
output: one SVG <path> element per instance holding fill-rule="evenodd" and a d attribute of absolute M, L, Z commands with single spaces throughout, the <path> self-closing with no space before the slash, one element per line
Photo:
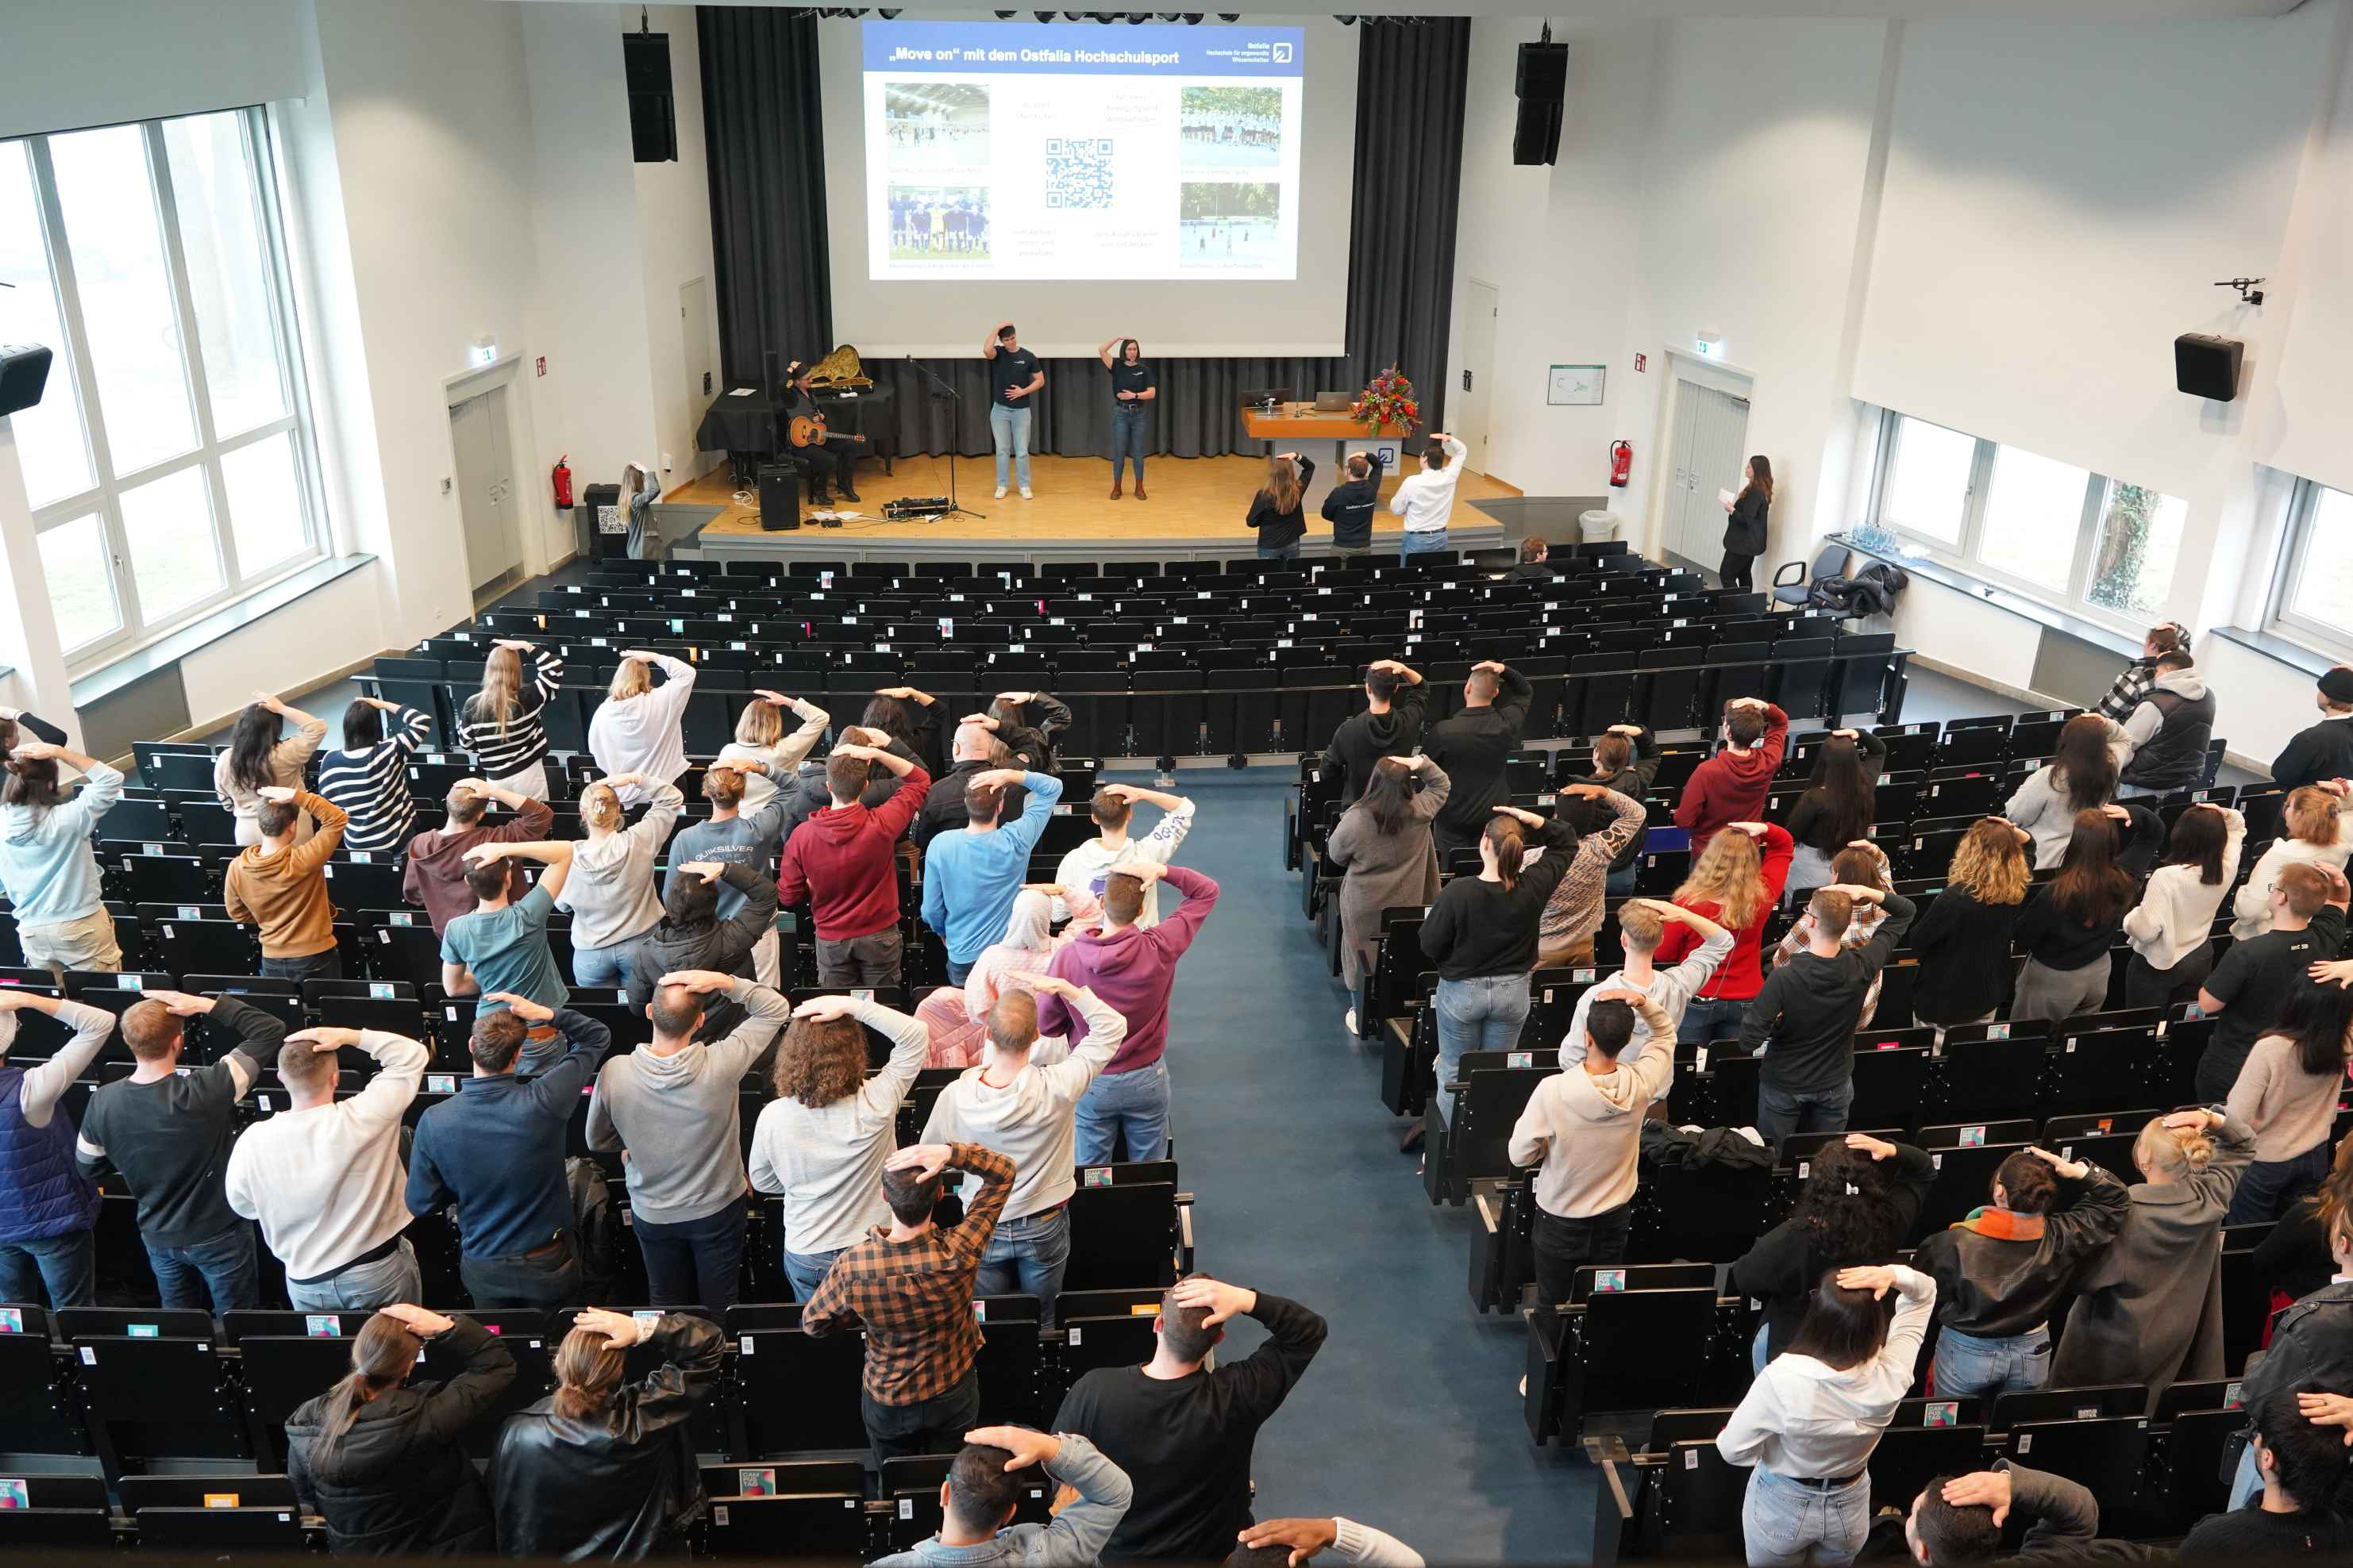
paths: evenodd
<path fill-rule="evenodd" d="M 459 1276 L 475 1307 L 576 1307 L 581 1255 L 565 1190 L 565 1124 L 595 1074 L 612 1030 L 569 1009 L 492 992 L 504 1009 L 473 1023 L 473 1077 L 416 1119 L 409 1213 L 456 1204 Z M 565 1058 L 515 1077 L 525 1034 L 553 1023 Z"/>

